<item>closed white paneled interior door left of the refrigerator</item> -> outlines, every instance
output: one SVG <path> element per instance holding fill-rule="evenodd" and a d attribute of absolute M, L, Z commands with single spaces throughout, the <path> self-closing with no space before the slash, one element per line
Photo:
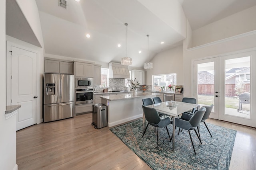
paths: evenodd
<path fill-rule="evenodd" d="M 16 130 L 36 124 L 37 54 L 11 47 L 11 104 L 20 104 Z"/>

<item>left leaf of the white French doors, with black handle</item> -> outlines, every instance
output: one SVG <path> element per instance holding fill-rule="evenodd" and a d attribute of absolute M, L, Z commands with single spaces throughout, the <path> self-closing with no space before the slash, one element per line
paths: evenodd
<path fill-rule="evenodd" d="M 194 98 L 200 107 L 214 104 L 210 118 L 219 119 L 219 59 L 194 61 Z"/>

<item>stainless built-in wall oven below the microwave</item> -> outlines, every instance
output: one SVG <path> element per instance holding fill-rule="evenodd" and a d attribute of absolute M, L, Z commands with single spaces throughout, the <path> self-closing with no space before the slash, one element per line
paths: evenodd
<path fill-rule="evenodd" d="M 93 103 L 93 88 L 76 89 L 75 104 Z"/>

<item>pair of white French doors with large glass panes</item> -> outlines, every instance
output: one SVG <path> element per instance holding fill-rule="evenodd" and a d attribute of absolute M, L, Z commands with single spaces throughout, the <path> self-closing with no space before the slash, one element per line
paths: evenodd
<path fill-rule="evenodd" d="M 194 61 L 194 98 L 200 106 L 214 104 L 210 118 L 251 126 L 252 56 L 255 51 Z"/>

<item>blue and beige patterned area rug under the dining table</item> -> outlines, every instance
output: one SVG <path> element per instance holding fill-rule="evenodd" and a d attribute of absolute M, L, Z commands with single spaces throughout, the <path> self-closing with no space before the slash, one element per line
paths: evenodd
<path fill-rule="evenodd" d="M 142 138 L 142 119 L 111 128 L 110 130 L 124 142 L 135 154 L 154 170 L 228 170 L 236 131 L 207 123 L 212 134 L 202 124 L 200 135 L 202 145 L 191 131 L 196 154 L 190 141 L 188 131 L 175 133 L 175 150 L 165 128 L 159 128 L 158 149 L 156 150 L 156 132 L 154 127 L 148 129 Z M 168 125 L 172 135 L 172 125 Z"/>

